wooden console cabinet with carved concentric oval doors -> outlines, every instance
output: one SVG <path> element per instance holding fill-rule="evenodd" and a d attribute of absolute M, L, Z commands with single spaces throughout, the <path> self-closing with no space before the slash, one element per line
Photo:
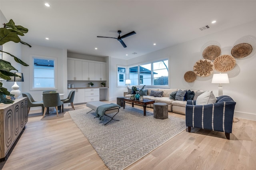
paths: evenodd
<path fill-rule="evenodd" d="M 8 151 L 28 122 L 27 97 L 16 99 L 12 104 L 0 104 L 0 160 Z"/>

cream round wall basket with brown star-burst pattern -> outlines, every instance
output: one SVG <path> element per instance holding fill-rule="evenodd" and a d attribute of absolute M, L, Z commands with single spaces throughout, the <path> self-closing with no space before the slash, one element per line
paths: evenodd
<path fill-rule="evenodd" d="M 200 59 L 196 61 L 193 70 L 199 77 L 207 77 L 214 71 L 214 64 L 209 59 Z"/>

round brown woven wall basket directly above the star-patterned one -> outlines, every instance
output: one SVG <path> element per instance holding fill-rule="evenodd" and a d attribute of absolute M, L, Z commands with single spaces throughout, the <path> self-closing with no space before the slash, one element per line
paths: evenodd
<path fill-rule="evenodd" d="M 218 56 L 220 56 L 220 54 L 221 54 L 221 50 L 218 45 L 210 45 L 206 47 L 203 51 L 203 57 L 211 61 L 213 61 Z"/>

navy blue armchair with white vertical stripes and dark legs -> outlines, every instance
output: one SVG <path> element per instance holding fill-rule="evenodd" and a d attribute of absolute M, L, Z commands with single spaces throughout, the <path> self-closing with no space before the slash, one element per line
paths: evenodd
<path fill-rule="evenodd" d="M 236 102 L 226 95 L 217 98 L 216 103 L 196 105 L 196 101 L 188 100 L 186 105 L 186 126 L 225 132 L 230 139 Z"/>

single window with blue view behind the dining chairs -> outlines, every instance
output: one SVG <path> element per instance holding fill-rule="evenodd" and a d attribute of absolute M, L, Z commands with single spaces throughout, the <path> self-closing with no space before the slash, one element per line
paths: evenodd
<path fill-rule="evenodd" d="M 38 57 L 32 56 L 30 58 L 30 66 L 32 70 L 30 77 L 32 87 L 30 90 L 45 90 L 57 88 L 57 59 L 54 57 Z"/>

